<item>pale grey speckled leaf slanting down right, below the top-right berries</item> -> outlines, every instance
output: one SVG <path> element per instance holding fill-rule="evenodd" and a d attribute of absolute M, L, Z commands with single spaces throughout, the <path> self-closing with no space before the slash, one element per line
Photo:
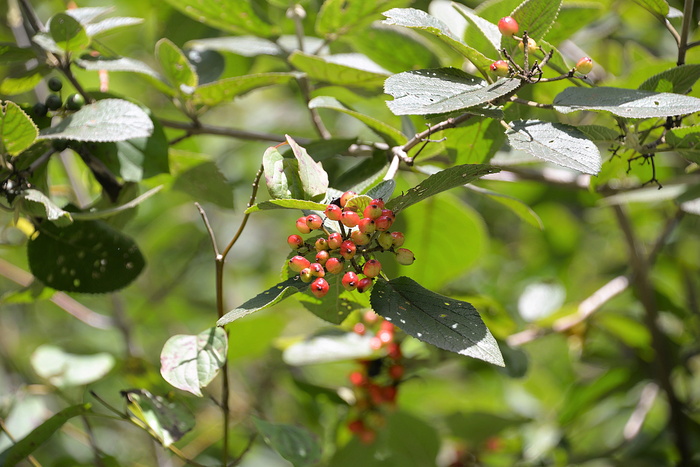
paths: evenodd
<path fill-rule="evenodd" d="M 506 131 L 514 149 L 579 172 L 600 172 L 598 147 L 576 127 L 563 123 L 527 120 L 512 122 Z"/>

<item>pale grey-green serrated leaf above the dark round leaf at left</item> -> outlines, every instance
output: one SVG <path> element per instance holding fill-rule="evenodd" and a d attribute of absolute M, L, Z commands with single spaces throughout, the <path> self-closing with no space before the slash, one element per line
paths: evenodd
<path fill-rule="evenodd" d="M 73 141 L 125 141 L 146 138 L 153 122 L 141 107 L 122 99 L 104 99 L 88 104 L 61 122 L 41 130 L 39 139 Z"/>

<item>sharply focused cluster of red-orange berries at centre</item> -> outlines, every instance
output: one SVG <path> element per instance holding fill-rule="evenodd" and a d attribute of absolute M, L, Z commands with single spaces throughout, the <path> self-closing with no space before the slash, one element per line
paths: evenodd
<path fill-rule="evenodd" d="M 374 253 L 389 251 L 399 264 L 409 265 L 415 260 L 413 252 L 401 248 L 404 235 L 392 232 L 396 219 L 394 212 L 384 208 L 380 198 L 358 195 L 346 191 L 331 203 L 323 213 L 302 216 L 296 221 L 302 234 L 320 230 L 323 235 L 313 243 L 301 235 L 287 237 L 287 243 L 297 253 L 289 260 L 289 269 L 299 274 L 304 282 L 311 282 L 311 293 L 321 298 L 330 288 L 326 273 L 343 274 L 341 284 L 345 290 L 366 292 L 380 274 L 382 264 Z M 313 255 L 310 260 L 306 256 Z"/>

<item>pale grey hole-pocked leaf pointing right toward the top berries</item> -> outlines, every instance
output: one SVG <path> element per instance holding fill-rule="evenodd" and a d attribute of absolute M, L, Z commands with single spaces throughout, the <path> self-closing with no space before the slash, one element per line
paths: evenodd
<path fill-rule="evenodd" d="M 396 115 L 427 115 L 463 110 L 489 103 L 520 87 L 520 80 L 504 78 L 489 84 L 456 68 L 415 70 L 390 76 L 384 92 Z"/>

